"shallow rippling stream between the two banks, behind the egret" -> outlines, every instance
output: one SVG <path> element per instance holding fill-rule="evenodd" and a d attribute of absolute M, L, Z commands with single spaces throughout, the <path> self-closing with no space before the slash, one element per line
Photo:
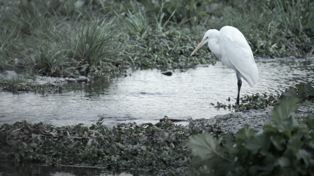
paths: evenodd
<path fill-rule="evenodd" d="M 312 60 L 256 59 L 256 64 L 260 80 L 253 88 L 243 80 L 240 96 L 280 93 L 290 85 L 314 79 Z M 123 122 L 156 123 L 164 116 L 211 118 L 230 111 L 210 103 L 234 104 L 236 95 L 236 74 L 220 61 L 208 67 L 174 70 L 172 76 L 156 69 L 136 70 L 110 82 L 69 83 L 63 94 L 0 92 L 0 125 L 26 120 L 90 126 L 104 116 L 103 124 L 112 127 Z"/>

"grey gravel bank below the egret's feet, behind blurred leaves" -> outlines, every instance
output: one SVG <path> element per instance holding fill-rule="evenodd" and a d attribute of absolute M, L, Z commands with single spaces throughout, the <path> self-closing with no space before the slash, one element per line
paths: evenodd
<path fill-rule="evenodd" d="M 257 134 L 263 132 L 263 125 L 271 121 L 273 106 L 269 106 L 260 110 L 248 110 L 242 112 L 231 112 L 225 115 L 217 115 L 211 119 L 202 119 L 200 121 L 190 121 L 189 125 L 201 126 L 203 123 L 218 123 L 220 127 L 227 132 L 237 132 L 245 124 L 248 124 L 251 128 L 257 130 Z M 314 105 L 299 106 L 298 110 L 292 113 L 293 117 L 303 122 L 303 117 L 314 114 Z"/>

